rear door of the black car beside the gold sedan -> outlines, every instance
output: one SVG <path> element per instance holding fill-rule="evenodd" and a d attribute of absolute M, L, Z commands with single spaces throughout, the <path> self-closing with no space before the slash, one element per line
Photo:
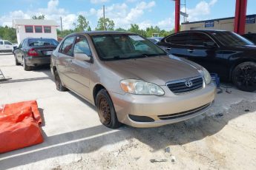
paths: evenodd
<path fill-rule="evenodd" d="M 178 57 L 186 58 L 188 33 L 177 33 L 163 38 L 158 45 L 166 52 Z"/>

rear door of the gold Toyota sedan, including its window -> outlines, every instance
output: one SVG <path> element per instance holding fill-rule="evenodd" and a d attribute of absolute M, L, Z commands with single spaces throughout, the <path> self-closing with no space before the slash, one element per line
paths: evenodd
<path fill-rule="evenodd" d="M 59 48 L 58 59 L 56 60 L 56 67 L 59 73 L 59 77 L 62 80 L 62 83 L 70 88 L 72 84 L 72 79 L 69 77 L 73 60 L 73 41 L 76 36 L 71 35 L 62 42 L 61 47 Z"/>

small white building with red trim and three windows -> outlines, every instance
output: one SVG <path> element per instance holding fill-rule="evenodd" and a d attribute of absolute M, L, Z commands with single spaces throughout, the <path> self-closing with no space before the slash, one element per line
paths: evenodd
<path fill-rule="evenodd" d="M 54 38 L 57 40 L 56 21 L 44 19 L 13 19 L 18 44 L 24 38 Z"/>

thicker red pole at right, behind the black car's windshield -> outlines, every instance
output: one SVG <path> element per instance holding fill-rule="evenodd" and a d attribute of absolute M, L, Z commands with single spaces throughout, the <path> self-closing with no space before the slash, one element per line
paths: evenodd
<path fill-rule="evenodd" d="M 247 0 L 237 0 L 235 4 L 234 33 L 243 35 L 246 30 Z"/>

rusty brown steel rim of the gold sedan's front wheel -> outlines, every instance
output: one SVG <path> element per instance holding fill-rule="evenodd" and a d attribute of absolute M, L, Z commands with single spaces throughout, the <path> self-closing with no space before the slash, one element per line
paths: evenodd
<path fill-rule="evenodd" d="M 99 118 L 104 124 L 111 123 L 111 107 L 104 97 L 99 101 Z"/>

